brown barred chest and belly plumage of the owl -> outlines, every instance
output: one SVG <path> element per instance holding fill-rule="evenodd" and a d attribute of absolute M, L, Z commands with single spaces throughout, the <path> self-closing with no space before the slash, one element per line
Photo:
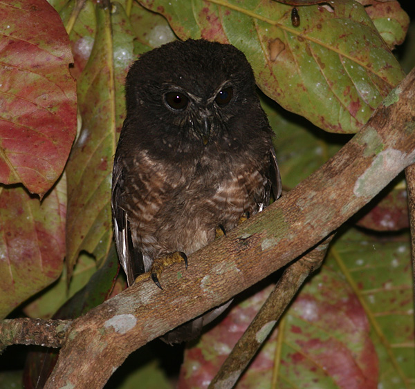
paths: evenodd
<path fill-rule="evenodd" d="M 264 206 L 269 157 L 252 161 L 252 156 L 241 156 L 232 163 L 223 159 L 202 155 L 192 163 L 172 166 L 142 151 L 124 169 L 129 175 L 122 207 L 146 271 L 154 258 L 177 251 L 192 254 L 214 240 L 218 225 L 228 231 L 244 213 L 256 214 Z"/>

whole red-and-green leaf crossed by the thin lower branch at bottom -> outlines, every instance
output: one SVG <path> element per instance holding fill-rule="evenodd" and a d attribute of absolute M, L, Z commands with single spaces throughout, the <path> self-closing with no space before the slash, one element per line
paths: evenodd
<path fill-rule="evenodd" d="M 234 343 L 264 303 L 268 291 L 234 307 L 186 351 L 179 388 L 206 388 Z M 358 298 L 339 276 L 324 269 L 304 287 L 252 362 L 237 388 L 377 388 L 378 357 Z M 277 341 L 282 341 L 277 348 Z M 273 378 L 274 375 L 274 378 Z"/>

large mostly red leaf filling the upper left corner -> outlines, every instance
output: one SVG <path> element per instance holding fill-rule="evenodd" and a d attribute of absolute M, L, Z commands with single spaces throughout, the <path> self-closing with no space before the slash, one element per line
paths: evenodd
<path fill-rule="evenodd" d="M 68 36 L 46 0 L 0 4 L 0 181 L 44 193 L 61 175 L 76 133 Z"/>

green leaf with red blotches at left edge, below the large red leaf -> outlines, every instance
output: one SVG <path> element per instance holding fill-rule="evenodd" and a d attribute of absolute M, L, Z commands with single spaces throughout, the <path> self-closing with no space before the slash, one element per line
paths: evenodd
<path fill-rule="evenodd" d="M 0 317 L 55 281 L 65 255 L 66 180 L 44 200 L 0 188 Z"/>

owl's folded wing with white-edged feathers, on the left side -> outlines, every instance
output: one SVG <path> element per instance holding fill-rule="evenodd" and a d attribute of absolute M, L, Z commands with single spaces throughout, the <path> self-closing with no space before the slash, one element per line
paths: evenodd
<path fill-rule="evenodd" d="M 124 187 L 124 174 L 122 164 L 115 163 L 113 169 L 113 184 L 111 195 L 111 208 L 113 213 L 114 235 L 118 257 L 125 274 L 127 274 L 127 283 L 131 286 L 138 274 L 145 272 L 142 254 L 133 246 L 131 240 L 131 230 L 127 212 L 120 207 L 119 200 Z"/>

